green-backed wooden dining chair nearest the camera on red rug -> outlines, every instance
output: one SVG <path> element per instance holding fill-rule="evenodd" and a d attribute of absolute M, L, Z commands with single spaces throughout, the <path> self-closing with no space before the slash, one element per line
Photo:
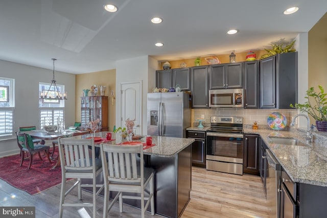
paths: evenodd
<path fill-rule="evenodd" d="M 42 160 L 42 157 L 40 154 L 41 151 L 45 152 L 46 157 L 48 158 L 49 162 L 51 163 L 51 160 L 49 157 L 50 146 L 47 146 L 44 144 L 34 144 L 32 137 L 27 133 L 16 132 L 16 137 L 17 137 L 17 144 L 18 144 L 18 147 L 20 149 L 20 154 L 21 154 L 20 166 L 22 166 L 22 163 L 24 161 L 25 152 L 30 154 L 29 169 L 32 166 L 33 155 L 35 153 L 38 153 L 40 159 Z"/>

